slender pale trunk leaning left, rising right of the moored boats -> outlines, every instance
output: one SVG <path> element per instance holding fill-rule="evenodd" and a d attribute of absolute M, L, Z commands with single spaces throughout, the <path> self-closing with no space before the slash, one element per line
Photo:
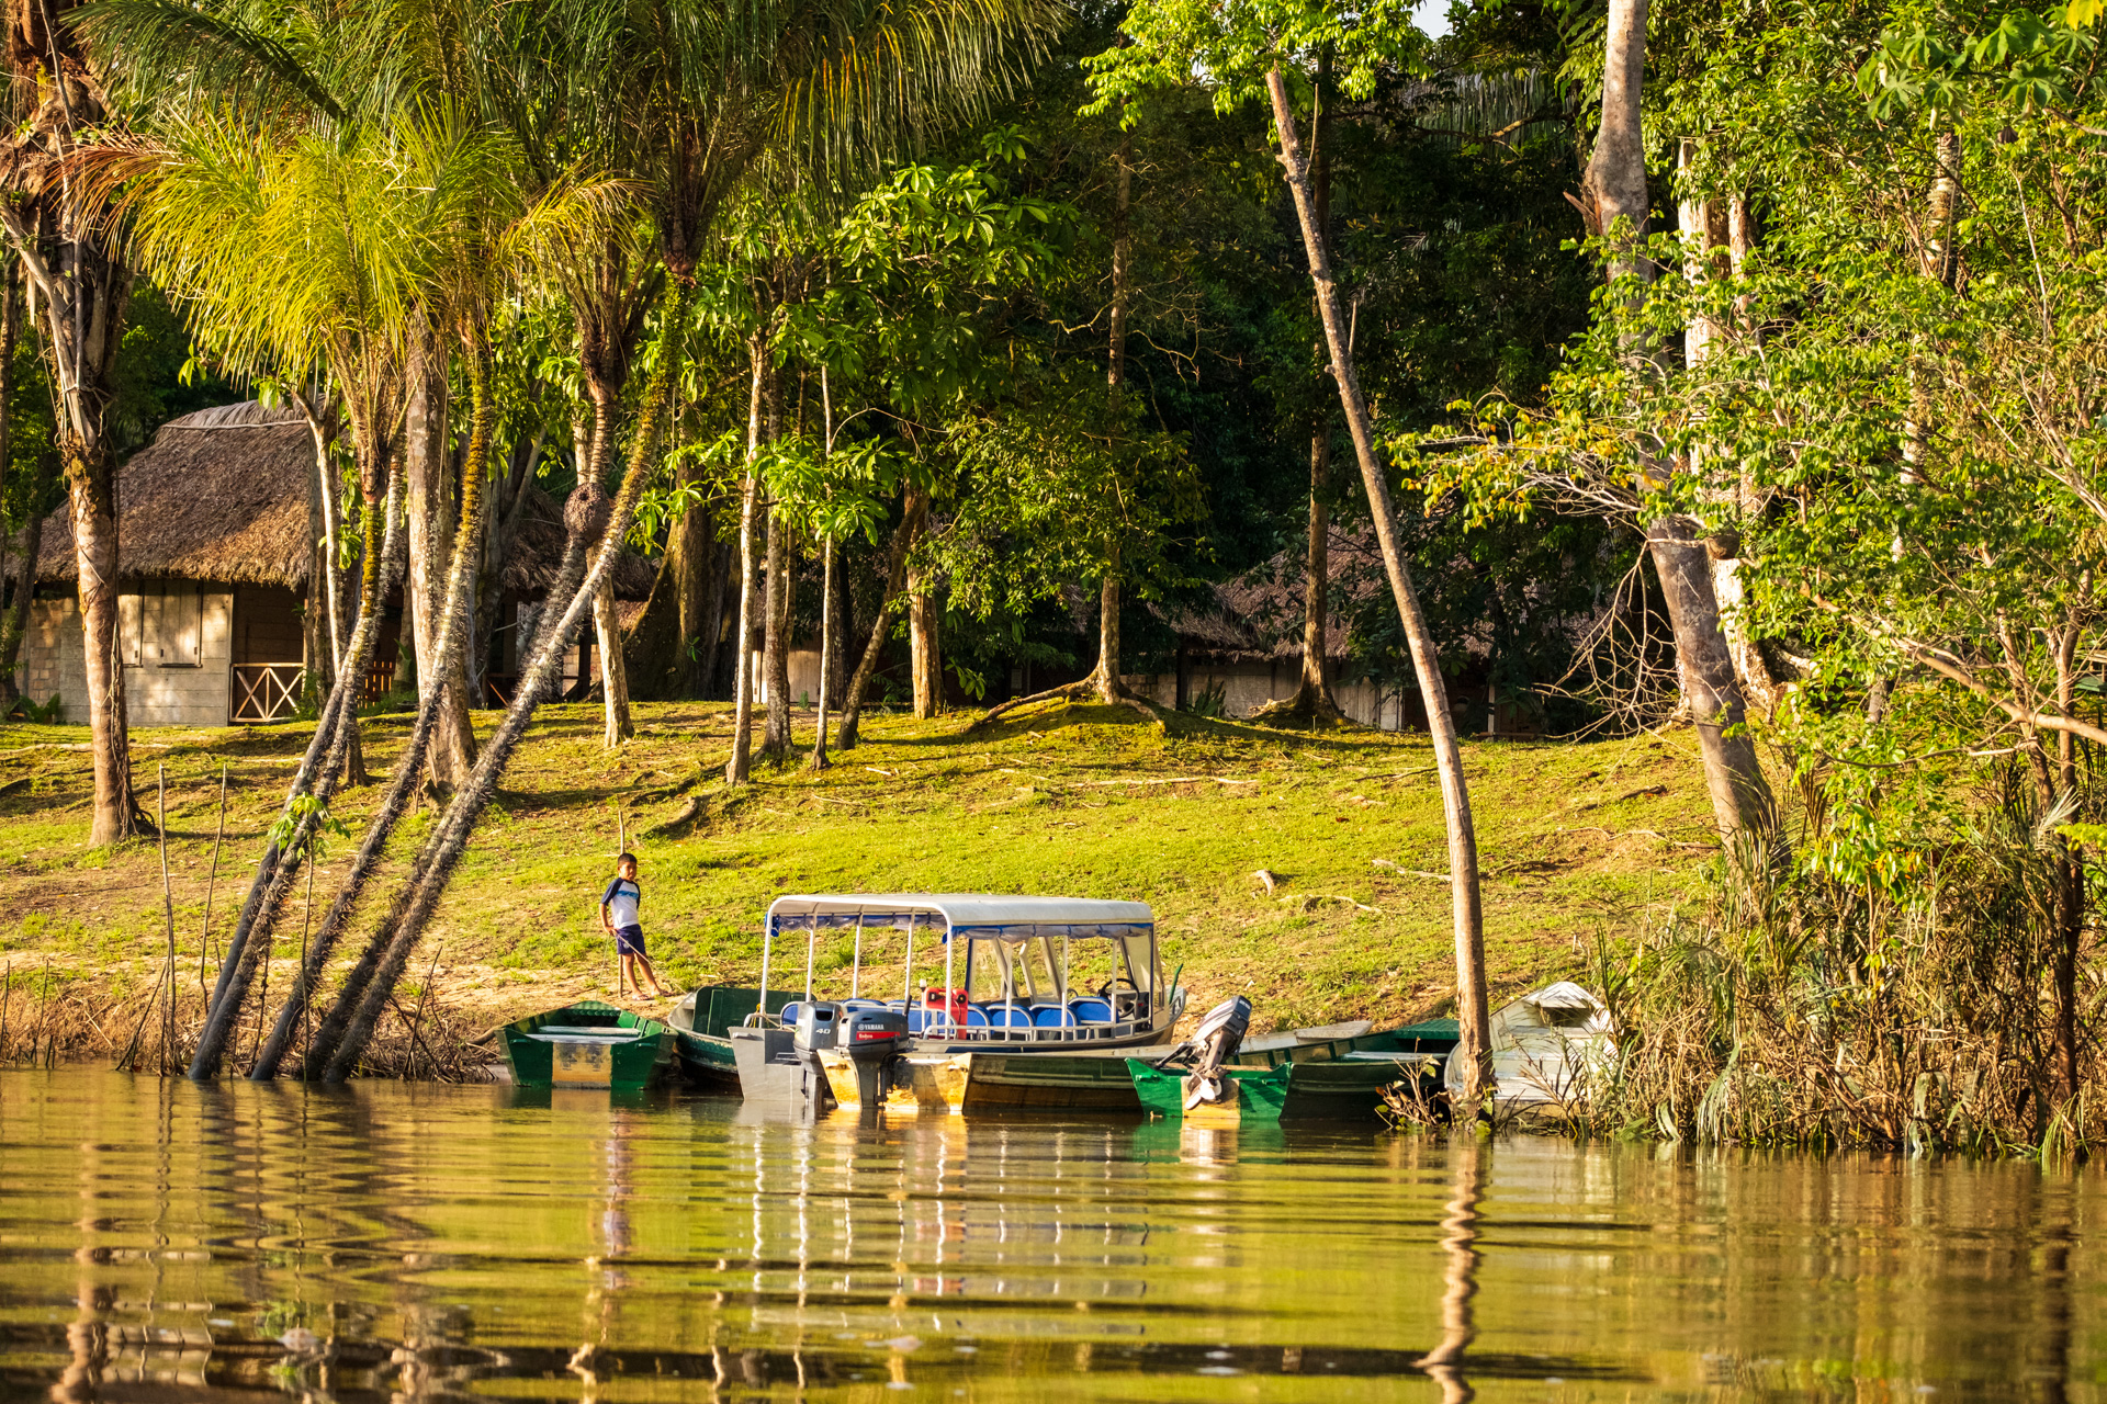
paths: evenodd
<path fill-rule="evenodd" d="M 1477 829 L 1471 823 L 1471 789 L 1462 775 L 1462 747 L 1456 741 L 1456 720 L 1450 716 L 1448 686 L 1441 678 L 1441 653 L 1426 627 L 1420 598 L 1412 589 L 1412 573 L 1405 566 L 1403 547 L 1397 543 L 1391 482 L 1382 472 L 1382 459 L 1376 453 L 1376 425 L 1367 413 L 1367 400 L 1361 396 L 1361 381 L 1355 375 L 1353 345 L 1346 339 L 1346 314 L 1338 299 L 1338 286 L 1332 280 L 1332 257 L 1317 227 L 1311 168 L 1302 156 L 1302 141 L 1296 137 L 1296 114 L 1287 101 L 1287 78 L 1279 67 L 1266 74 L 1266 93 L 1273 99 L 1273 128 L 1281 141 L 1281 164 L 1285 166 L 1287 187 L 1294 192 L 1296 217 L 1302 223 L 1302 248 L 1308 255 L 1311 282 L 1317 288 L 1317 314 L 1323 322 L 1325 347 L 1332 354 L 1332 377 L 1338 381 L 1340 408 L 1346 413 L 1353 453 L 1361 465 L 1361 484 L 1367 490 L 1367 509 L 1376 524 L 1376 543 L 1382 547 L 1382 568 L 1391 577 L 1391 594 L 1397 600 L 1397 615 L 1403 621 L 1405 642 L 1412 648 L 1412 667 L 1420 678 L 1420 697 L 1426 703 L 1426 728 L 1433 735 L 1435 768 L 1441 779 L 1441 810 L 1448 821 L 1450 909 L 1456 932 L 1456 1021 L 1462 1025 L 1460 1046 L 1464 1048 L 1471 1074 L 1464 1078 L 1464 1095 L 1475 1099 L 1492 1080 L 1492 1055 L 1485 1042 L 1485 930 L 1477 892 Z"/>

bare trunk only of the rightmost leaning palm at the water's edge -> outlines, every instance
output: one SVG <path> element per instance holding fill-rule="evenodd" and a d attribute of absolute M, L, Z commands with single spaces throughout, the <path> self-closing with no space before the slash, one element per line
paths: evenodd
<path fill-rule="evenodd" d="M 664 320 L 659 324 L 657 360 L 653 362 L 651 375 L 645 383 L 643 402 L 638 404 L 636 432 L 630 438 L 630 459 L 622 476 L 622 490 L 615 495 L 613 507 L 607 514 L 605 530 L 598 533 L 607 543 L 619 543 L 628 535 L 630 524 L 636 520 L 636 501 L 643 497 L 645 480 L 651 476 L 651 467 L 657 461 L 657 442 L 670 398 L 670 383 L 681 360 L 678 333 L 687 312 L 687 282 L 676 278 L 672 293 L 666 299 Z M 584 522 L 579 522 L 575 535 L 590 535 Z M 590 543 L 582 541 L 577 551 L 567 547 L 565 560 L 584 560 L 588 545 Z M 539 697 L 554 674 L 563 667 L 563 655 L 577 636 L 586 613 L 592 608 L 592 598 L 598 594 L 600 581 L 607 579 L 611 568 L 613 554 L 600 551 L 584 581 L 577 581 L 577 577 L 558 579 L 558 585 L 569 591 L 563 617 L 550 631 L 541 653 L 535 655 L 529 676 L 523 680 L 523 686 L 512 699 L 512 705 L 506 709 L 497 730 L 483 747 L 483 756 L 476 760 L 476 770 L 470 775 L 468 783 L 455 791 L 453 800 L 447 804 L 447 813 L 432 827 L 432 834 L 413 867 L 413 880 L 400 890 L 388 920 L 375 932 L 375 943 L 383 949 L 383 954 L 371 981 L 362 991 L 358 991 L 356 1000 L 339 996 L 337 1008 L 331 1010 L 331 1019 L 324 1021 L 337 1027 L 339 1034 L 329 1038 L 327 1044 L 320 1031 L 316 1034 L 316 1044 L 310 1048 L 308 1065 L 314 1067 L 316 1061 L 324 1061 L 322 1074 L 329 1082 L 341 1082 L 354 1067 L 358 1067 L 358 1061 L 373 1038 L 373 1029 L 377 1027 L 396 983 L 402 979 L 411 951 L 424 937 L 426 926 L 438 907 L 438 899 L 453 880 L 453 869 L 461 861 L 461 853 L 468 846 L 468 838 L 474 831 L 476 821 L 483 817 L 485 806 L 497 791 L 497 779 L 512 762 L 512 754 L 533 720 Z M 558 594 L 556 598 L 565 596 Z M 339 1010 L 348 1010 L 341 1021 L 337 1019 Z"/>

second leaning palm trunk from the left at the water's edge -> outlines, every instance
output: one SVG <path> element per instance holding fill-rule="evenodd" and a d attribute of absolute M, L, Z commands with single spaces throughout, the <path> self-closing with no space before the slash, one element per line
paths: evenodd
<path fill-rule="evenodd" d="M 491 402 L 489 345 L 480 333 L 470 337 L 468 394 L 470 419 L 468 457 L 461 467 L 461 530 L 455 535 L 453 560 L 447 564 L 447 596 L 445 613 L 440 615 L 442 627 L 438 640 L 438 661 L 442 669 L 451 667 L 455 657 L 468 646 L 468 619 L 480 558 L 478 541 L 483 539 L 483 526 L 491 516 L 491 495 L 485 484 L 489 478 L 491 436 L 497 415 L 495 404 Z M 402 810 L 409 806 L 409 800 L 417 789 L 424 756 L 430 749 L 432 737 L 440 724 L 442 699 L 428 697 L 417 707 L 417 722 L 411 726 L 409 745 L 396 760 L 394 779 L 388 783 L 388 794 L 381 798 L 379 810 L 367 825 L 367 836 L 358 846 L 358 857 L 343 876 L 343 884 L 337 888 L 337 897 L 331 901 L 329 916 L 322 918 L 320 930 L 316 930 L 314 939 L 308 941 L 299 975 L 293 981 L 293 989 L 287 994 L 284 1004 L 278 1008 L 278 1019 L 272 1025 L 270 1038 L 257 1048 L 257 1057 L 249 1069 L 251 1078 L 265 1082 L 278 1076 L 278 1067 L 293 1044 L 295 1031 L 299 1029 L 301 1015 L 308 1012 L 314 989 L 329 970 L 329 960 L 350 924 L 358 897 L 365 890 L 367 880 L 373 876 L 373 869 L 379 865 L 379 859 L 388 848 L 388 838 L 394 834 L 394 825 L 402 819 Z"/>

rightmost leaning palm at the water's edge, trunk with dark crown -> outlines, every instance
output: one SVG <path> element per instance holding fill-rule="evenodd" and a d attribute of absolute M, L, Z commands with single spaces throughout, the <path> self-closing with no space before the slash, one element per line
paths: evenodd
<path fill-rule="evenodd" d="M 308 1074 L 320 1071 L 327 1080 L 356 1069 L 497 777 L 613 568 L 615 547 L 628 535 L 657 459 L 689 284 L 727 196 L 761 164 L 839 171 L 978 109 L 1060 19 L 1049 0 L 822 0 L 725 8 L 693 0 L 575 0 L 552 15 L 552 27 L 531 38 L 584 65 L 586 80 L 567 91 L 603 95 L 600 103 L 579 107 L 584 131 L 603 143 L 600 149 L 619 154 L 609 160 L 613 171 L 647 192 L 668 276 L 662 343 L 605 528 L 594 530 L 598 524 L 584 512 L 571 518 L 571 541 L 550 594 L 552 602 L 569 602 L 550 610 L 554 625 L 535 642 L 504 722 L 375 932 L 373 979 L 356 991 L 356 1002 L 339 998 L 310 1044 Z M 594 267 L 605 272 L 605 265 Z M 619 286 L 619 280 L 600 280 L 600 286 Z M 594 440 L 594 453 L 605 453 L 598 434 Z M 592 486 L 592 480 L 584 484 Z M 603 541 L 586 570 L 588 551 Z"/>

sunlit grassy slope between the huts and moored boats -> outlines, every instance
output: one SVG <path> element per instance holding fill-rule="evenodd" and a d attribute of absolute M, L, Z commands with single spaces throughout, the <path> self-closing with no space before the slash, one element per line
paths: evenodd
<path fill-rule="evenodd" d="M 643 705 L 636 720 L 638 737 L 605 751 L 596 707 L 544 707 L 415 962 L 436 972 L 430 1002 L 449 1027 L 615 994 L 596 899 L 617 804 L 643 857 L 653 954 L 685 985 L 752 981 L 761 916 L 777 892 L 995 890 L 1153 903 L 1165 966 L 1184 968 L 1193 1004 L 1247 994 L 1260 1027 L 1403 1021 L 1452 1000 L 1441 800 L 1422 737 L 1197 718 L 1165 735 L 1131 711 L 1060 705 L 969 737 L 963 718 L 877 716 L 866 745 L 832 770 L 763 764 L 750 787 L 727 791 L 727 707 Z M 493 722 L 483 716 L 478 728 Z M 375 775 L 407 730 L 407 716 L 367 722 Z M 232 926 L 306 735 L 297 724 L 135 733 L 150 813 L 156 768 L 169 777 L 188 998 L 198 998 L 200 943 L 209 964 Z M 1658 924 L 1690 899 L 1711 850 L 1692 745 L 1671 733 L 1466 747 L 1496 996 L 1574 970 L 1597 939 Z M 206 928 L 221 766 L 225 842 Z M 124 1002 L 139 1008 L 166 951 L 158 850 L 91 850 L 88 794 L 84 728 L 0 728 L 6 1038 L 25 1038 L 23 1002 L 42 979 L 78 1010 L 59 1019 L 80 1025 L 61 1042 L 78 1055 L 122 1046 Z M 350 789 L 335 817 L 356 836 L 375 800 L 377 787 Z M 394 874 L 430 819 L 405 825 Z M 324 853 L 318 907 L 354 842 L 335 838 Z M 295 901 L 274 983 L 299 932 Z M 898 949 L 877 956 L 874 979 L 889 989 L 902 979 Z M 826 958 L 841 960 L 845 949 Z M 794 962 L 775 983 L 803 981 L 803 951 Z M 405 996 L 426 998 L 415 981 Z"/>

